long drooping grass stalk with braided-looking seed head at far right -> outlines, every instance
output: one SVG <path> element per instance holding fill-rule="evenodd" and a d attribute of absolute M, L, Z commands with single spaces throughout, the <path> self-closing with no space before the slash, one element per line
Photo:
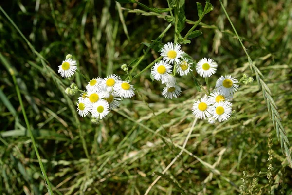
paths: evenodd
<path fill-rule="evenodd" d="M 290 143 L 289 143 L 289 140 L 286 136 L 286 131 L 281 123 L 282 119 L 277 111 L 277 106 L 274 102 L 274 99 L 271 97 L 272 93 L 271 93 L 269 87 L 267 86 L 267 84 L 261 79 L 261 77 L 263 78 L 264 76 L 262 75 L 260 70 L 256 67 L 256 65 L 253 63 L 252 59 L 250 58 L 249 54 L 247 53 L 247 49 L 244 47 L 232 21 L 230 20 L 230 17 L 228 15 L 222 1 L 221 0 L 219 0 L 219 1 L 220 1 L 221 7 L 222 7 L 227 19 L 229 20 L 229 22 L 232 26 L 234 33 L 237 36 L 237 39 L 240 42 L 240 45 L 242 46 L 242 48 L 243 48 L 243 50 L 248 58 L 248 62 L 249 62 L 251 70 L 252 71 L 254 70 L 256 73 L 256 81 L 257 81 L 259 88 L 262 90 L 263 97 L 264 97 L 266 104 L 267 104 L 267 107 L 268 107 L 268 112 L 269 112 L 270 118 L 273 122 L 274 129 L 276 130 L 276 133 L 277 133 L 278 141 L 281 144 L 282 152 L 285 153 L 287 161 L 288 161 L 290 167 L 292 168 L 292 160 L 291 160 L 291 156 L 290 156 L 290 150 L 288 147 L 290 145 Z"/>

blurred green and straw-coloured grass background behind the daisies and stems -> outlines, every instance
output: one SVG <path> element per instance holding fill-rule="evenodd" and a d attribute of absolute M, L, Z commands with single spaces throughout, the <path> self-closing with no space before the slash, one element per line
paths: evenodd
<path fill-rule="evenodd" d="M 148 7 L 168 7 L 166 0 L 139 2 Z M 198 20 L 195 2 L 185 0 L 188 20 L 182 35 L 192 27 L 191 21 Z M 204 5 L 204 1 L 199 2 Z M 255 81 L 241 85 L 235 94 L 236 119 L 216 125 L 198 120 L 186 144 L 188 152 L 183 152 L 149 194 L 291 194 L 292 170 L 282 153 L 255 72 L 220 2 L 211 3 L 214 10 L 196 29 L 202 35 L 183 45 L 183 51 L 196 61 L 210 57 L 218 62 L 218 70 L 210 78 L 212 87 L 225 74 L 239 80 L 246 73 Z M 223 3 L 271 90 L 291 142 L 292 1 Z M 129 13 L 133 9 L 148 11 L 137 4 L 119 6 L 113 0 L 11 0 L 1 2 L 1 7 L 23 37 L 1 11 L 0 194 L 48 192 L 10 75 L 13 70 L 55 195 L 143 195 L 180 153 L 178 145 L 183 145 L 191 129 L 193 101 L 203 95 L 192 77 L 178 78 L 183 93 L 180 98 L 167 100 L 160 95 L 163 86 L 151 81 L 148 70 L 132 81 L 136 96 L 125 99 L 112 117 L 93 125 L 90 118 L 76 116 L 78 96 L 64 94 L 70 81 L 56 72 L 70 53 L 89 78 L 116 73 L 125 79 L 120 66 L 143 55 L 147 47 L 141 43 L 151 43 L 168 22 Z M 173 39 L 171 27 L 162 41 Z M 150 50 L 133 76 L 158 57 L 159 53 Z M 193 73 L 197 76 L 195 69 Z M 79 88 L 87 84 L 79 74 L 75 83 Z M 267 161 L 269 134 L 274 150 L 271 171 Z M 272 174 L 270 180 L 268 173 Z"/>

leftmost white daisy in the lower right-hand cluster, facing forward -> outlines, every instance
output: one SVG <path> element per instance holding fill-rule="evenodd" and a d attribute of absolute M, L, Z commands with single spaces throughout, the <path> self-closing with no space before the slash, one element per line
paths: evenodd
<path fill-rule="evenodd" d="M 212 103 L 208 100 L 207 96 L 201 98 L 201 101 L 198 99 L 193 104 L 192 108 L 193 115 L 200 119 L 202 118 L 206 119 L 206 117 L 210 117 L 214 112 L 214 107 L 211 106 L 211 104 Z"/>

